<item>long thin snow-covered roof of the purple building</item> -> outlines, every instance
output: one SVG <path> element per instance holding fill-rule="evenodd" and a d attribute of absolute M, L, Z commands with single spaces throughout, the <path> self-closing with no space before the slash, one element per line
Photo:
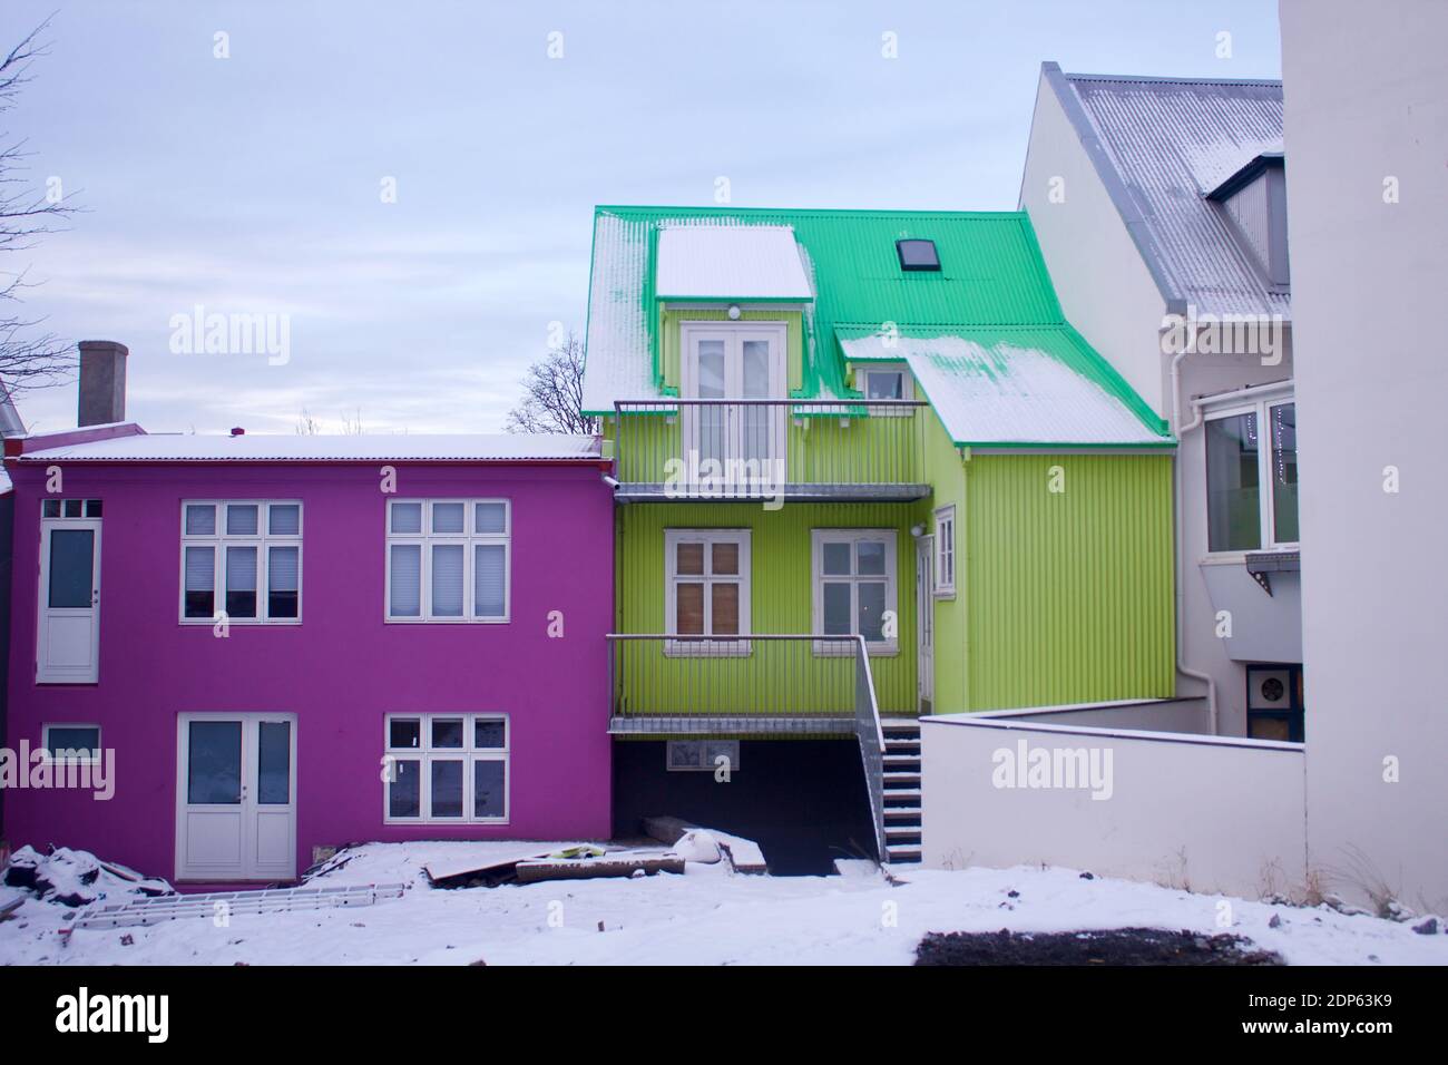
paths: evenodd
<path fill-rule="evenodd" d="M 598 459 L 598 438 L 562 433 L 303 436 L 140 433 L 29 451 L 22 462 L 463 462 Z"/>

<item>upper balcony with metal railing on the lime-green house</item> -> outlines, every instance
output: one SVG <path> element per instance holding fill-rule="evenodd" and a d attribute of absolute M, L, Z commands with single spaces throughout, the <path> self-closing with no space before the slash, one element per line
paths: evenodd
<path fill-rule="evenodd" d="M 621 503 L 911 501 L 918 400 L 626 400 L 614 404 Z"/>

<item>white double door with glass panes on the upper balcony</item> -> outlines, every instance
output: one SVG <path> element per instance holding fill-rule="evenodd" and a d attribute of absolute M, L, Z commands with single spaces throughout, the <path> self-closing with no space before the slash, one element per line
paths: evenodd
<path fill-rule="evenodd" d="M 685 323 L 681 394 L 691 480 L 725 487 L 785 481 L 786 406 L 738 400 L 783 400 L 785 326 L 778 323 Z M 730 400 L 734 400 L 733 403 Z"/>

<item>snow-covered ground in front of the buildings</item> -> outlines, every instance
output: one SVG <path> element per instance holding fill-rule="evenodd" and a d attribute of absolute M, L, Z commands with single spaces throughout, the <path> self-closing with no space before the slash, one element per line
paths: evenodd
<path fill-rule="evenodd" d="M 556 848 L 546 845 L 540 849 Z M 1147 926 L 1232 932 L 1293 964 L 1444 965 L 1448 935 L 1319 909 L 1270 906 L 1072 869 L 896 871 L 746 877 L 689 864 L 685 875 L 434 890 L 426 862 L 517 856 L 518 843 L 372 843 L 314 884 L 397 882 L 400 900 L 269 916 L 229 927 L 182 919 L 64 937 L 64 906 L 28 897 L 0 923 L 12 965 L 908 965 L 927 932 L 1067 932 Z M 1011 897 L 1008 893 L 1018 893 Z M 0 909 L 20 897 L 0 887 Z M 1225 903 L 1225 909 L 1224 909 Z M 1226 913 L 1229 923 L 1219 922 Z M 1268 922 L 1277 916 L 1277 927 Z M 1416 923 L 1416 922 L 1415 922 Z M 599 930 L 602 929 L 602 930 Z M 123 943 L 127 937 L 132 942 Z"/>

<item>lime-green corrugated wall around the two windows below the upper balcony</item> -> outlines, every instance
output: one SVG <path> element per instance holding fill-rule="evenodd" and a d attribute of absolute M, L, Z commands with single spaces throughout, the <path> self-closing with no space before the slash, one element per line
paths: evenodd
<path fill-rule="evenodd" d="M 750 529 L 750 627 L 756 633 L 812 632 L 811 538 L 814 529 L 895 529 L 896 584 L 899 611 L 899 653 L 872 655 L 876 698 L 885 713 L 915 710 L 915 543 L 909 535 L 914 509 L 873 503 L 788 503 L 766 511 L 750 503 L 639 503 L 618 509 L 617 625 L 618 632 L 665 632 L 665 529 Z M 759 645 L 760 648 L 763 645 Z M 782 669 L 785 656 L 762 652 L 749 659 L 724 659 L 704 664 L 696 659 L 663 659 L 654 667 L 676 680 L 678 706 L 696 713 L 746 710 L 734 706 L 727 687 L 741 669 Z M 798 662 L 796 662 L 798 665 Z M 805 664 L 809 665 L 808 662 Z M 812 667 L 809 667 L 812 668 Z M 704 680 L 704 684 L 699 681 Z M 795 675 L 778 677 L 779 684 L 796 684 Z M 838 698 L 830 691 L 837 678 L 825 678 L 818 691 L 799 685 L 799 698 L 821 701 Z M 756 681 L 757 682 L 757 678 Z M 853 681 L 851 681 L 853 682 Z M 691 688 L 685 693 L 685 685 Z M 853 693 L 853 688 L 849 691 Z M 688 697 L 686 697 L 688 696 Z M 821 703 L 822 706 L 822 703 Z M 853 707 L 853 698 L 846 703 Z"/>

